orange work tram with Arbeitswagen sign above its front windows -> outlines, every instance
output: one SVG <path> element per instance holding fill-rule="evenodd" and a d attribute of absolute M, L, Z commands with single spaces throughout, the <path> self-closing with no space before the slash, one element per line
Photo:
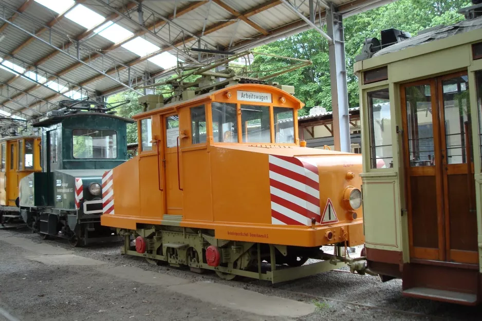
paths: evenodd
<path fill-rule="evenodd" d="M 305 147 L 303 103 L 282 88 L 293 91 L 248 83 L 140 99 L 139 154 L 102 179 L 101 223 L 125 238 L 122 253 L 273 283 L 347 263 L 365 272 L 345 255 L 364 243 L 361 155 Z"/>

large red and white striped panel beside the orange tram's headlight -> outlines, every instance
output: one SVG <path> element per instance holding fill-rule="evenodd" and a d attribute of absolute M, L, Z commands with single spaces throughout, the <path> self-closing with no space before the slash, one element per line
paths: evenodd
<path fill-rule="evenodd" d="M 306 158 L 269 155 L 271 223 L 311 225 L 320 223 L 318 167 Z"/>

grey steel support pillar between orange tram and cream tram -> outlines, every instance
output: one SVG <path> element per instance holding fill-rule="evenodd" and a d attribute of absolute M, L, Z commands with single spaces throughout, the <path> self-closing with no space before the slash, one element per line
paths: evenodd
<path fill-rule="evenodd" d="M 337 8 L 332 3 L 330 3 L 330 8 L 326 10 L 326 28 L 328 36 L 333 40 L 328 45 L 328 55 L 335 150 L 351 152 L 343 17 L 337 13 Z"/>

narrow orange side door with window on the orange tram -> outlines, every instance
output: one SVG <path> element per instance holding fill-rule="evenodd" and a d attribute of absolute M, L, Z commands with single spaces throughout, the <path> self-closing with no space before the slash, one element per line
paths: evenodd
<path fill-rule="evenodd" d="M 179 190 L 178 165 L 181 161 L 178 155 L 179 116 L 163 116 L 164 146 L 161 166 L 164 167 L 164 188 L 166 198 L 166 213 L 182 215 L 182 191 Z M 179 158 L 178 158 L 179 156 Z"/>

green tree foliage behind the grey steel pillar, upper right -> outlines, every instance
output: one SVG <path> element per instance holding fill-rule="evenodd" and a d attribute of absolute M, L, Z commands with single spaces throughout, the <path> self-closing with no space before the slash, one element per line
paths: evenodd
<path fill-rule="evenodd" d="M 378 37 L 388 28 L 410 32 L 437 25 L 448 25 L 462 20 L 457 10 L 470 5 L 467 0 L 399 0 L 389 5 L 360 13 L 344 20 L 348 102 L 358 106 L 358 79 L 353 73 L 355 56 L 361 52 L 367 37 Z M 326 26 L 323 27 L 326 32 Z M 316 30 L 308 30 L 256 48 L 255 51 L 310 60 L 313 64 L 303 69 L 276 77 L 273 81 L 294 85 L 295 96 L 306 106 L 299 115 L 306 115 L 313 106 L 331 110 L 331 88 L 328 43 Z M 287 62 L 270 56 L 257 55 L 256 70 L 271 70 Z"/>

